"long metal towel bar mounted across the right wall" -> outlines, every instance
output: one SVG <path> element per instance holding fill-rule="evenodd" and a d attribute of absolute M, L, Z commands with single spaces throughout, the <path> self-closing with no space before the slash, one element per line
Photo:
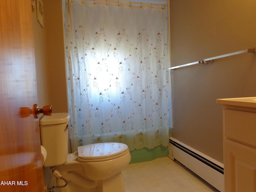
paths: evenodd
<path fill-rule="evenodd" d="M 233 53 L 228 53 L 228 54 L 224 54 L 224 55 L 220 55 L 220 56 L 210 57 L 210 58 L 204 59 L 202 61 L 196 61 L 196 62 L 184 64 L 184 65 L 170 67 L 169 70 L 173 70 L 173 69 L 176 70 L 177 68 L 186 67 L 186 66 L 190 66 L 190 65 L 195 65 L 195 64 L 199 64 L 199 63 L 208 64 L 208 61 L 214 62 L 214 59 L 229 57 L 229 56 L 238 55 L 238 54 L 242 54 L 242 53 L 252 53 L 252 55 L 256 55 L 256 48 L 246 49 L 246 50 L 237 51 L 237 52 L 233 52 Z"/>

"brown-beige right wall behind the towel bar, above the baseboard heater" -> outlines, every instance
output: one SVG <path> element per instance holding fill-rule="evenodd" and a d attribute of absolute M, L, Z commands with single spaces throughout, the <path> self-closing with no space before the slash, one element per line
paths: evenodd
<path fill-rule="evenodd" d="M 256 47 L 255 0 L 170 0 L 171 63 Z M 172 71 L 173 137 L 223 162 L 217 98 L 256 96 L 256 56 Z"/>

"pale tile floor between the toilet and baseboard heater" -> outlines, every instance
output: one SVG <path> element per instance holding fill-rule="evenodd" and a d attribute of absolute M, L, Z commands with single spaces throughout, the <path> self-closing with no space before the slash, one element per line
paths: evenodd
<path fill-rule="evenodd" d="M 168 157 L 129 164 L 122 174 L 126 192 L 219 192 Z"/>

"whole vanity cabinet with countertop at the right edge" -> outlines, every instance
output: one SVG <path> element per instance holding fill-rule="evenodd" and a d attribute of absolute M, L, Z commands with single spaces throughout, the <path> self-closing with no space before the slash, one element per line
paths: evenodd
<path fill-rule="evenodd" d="M 256 97 L 223 104 L 225 192 L 256 192 Z"/>

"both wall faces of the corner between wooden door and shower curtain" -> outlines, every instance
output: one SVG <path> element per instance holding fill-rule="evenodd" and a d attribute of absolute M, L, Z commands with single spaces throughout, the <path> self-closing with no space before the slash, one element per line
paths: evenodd
<path fill-rule="evenodd" d="M 43 1 L 44 28 L 33 14 L 39 106 L 68 112 L 62 0 Z"/>

